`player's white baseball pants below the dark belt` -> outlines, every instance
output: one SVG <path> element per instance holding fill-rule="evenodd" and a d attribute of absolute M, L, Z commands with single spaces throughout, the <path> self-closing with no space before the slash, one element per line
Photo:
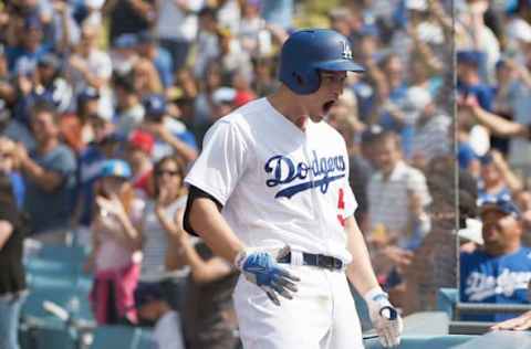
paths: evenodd
<path fill-rule="evenodd" d="M 240 276 L 235 288 L 239 331 L 246 349 L 357 349 L 362 330 L 345 273 L 282 264 L 301 278 L 293 299 L 275 306 Z"/>

